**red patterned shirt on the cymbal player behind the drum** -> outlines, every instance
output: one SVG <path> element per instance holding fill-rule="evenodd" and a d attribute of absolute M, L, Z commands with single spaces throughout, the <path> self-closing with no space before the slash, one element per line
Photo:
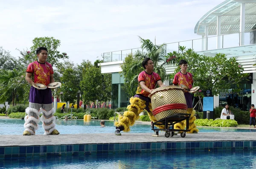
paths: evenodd
<path fill-rule="evenodd" d="M 173 82 L 174 85 L 185 85 L 189 89 L 192 88 L 193 84 L 193 77 L 192 74 L 187 72 L 186 74 L 183 74 L 181 72 L 178 72 L 175 74 Z"/>

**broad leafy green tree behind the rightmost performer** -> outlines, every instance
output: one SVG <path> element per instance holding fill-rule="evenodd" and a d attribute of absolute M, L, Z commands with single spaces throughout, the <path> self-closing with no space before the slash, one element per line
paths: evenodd
<path fill-rule="evenodd" d="M 199 55 L 192 49 L 180 46 L 179 53 L 174 51 L 166 56 L 167 64 L 177 66 L 175 72 L 169 75 L 171 82 L 175 73 L 180 71 L 180 59 L 188 62 L 188 72 L 193 75 L 194 86 L 200 86 L 201 90 L 212 90 L 215 96 L 227 92 L 232 86 L 235 86 L 233 92 L 240 91 L 239 83 L 248 76 L 242 73 L 244 69 L 235 57 L 228 59 L 225 54 L 216 54 L 214 57 Z"/>

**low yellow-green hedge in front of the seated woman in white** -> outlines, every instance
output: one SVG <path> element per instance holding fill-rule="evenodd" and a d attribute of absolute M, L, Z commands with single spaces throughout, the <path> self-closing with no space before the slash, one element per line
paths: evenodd
<path fill-rule="evenodd" d="M 197 119 L 195 121 L 197 126 L 209 126 L 209 127 L 236 127 L 238 125 L 235 120 L 222 120 L 222 119 Z"/>

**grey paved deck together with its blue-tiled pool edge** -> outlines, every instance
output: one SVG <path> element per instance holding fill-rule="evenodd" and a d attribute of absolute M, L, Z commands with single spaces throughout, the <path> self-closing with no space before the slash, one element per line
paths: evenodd
<path fill-rule="evenodd" d="M 166 138 L 152 133 L 0 135 L 0 158 L 96 153 L 220 151 L 256 149 L 256 132 L 201 132 Z"/>

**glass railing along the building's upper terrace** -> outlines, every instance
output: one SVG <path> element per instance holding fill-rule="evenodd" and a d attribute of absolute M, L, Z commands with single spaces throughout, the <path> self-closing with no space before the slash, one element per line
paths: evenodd
<path fill-rule="evenodd" d="M 256 30 L 246 31 L 244 32 L 244 45 L 255 44 L 256 39 L 252 39 L 253 37 L 251 33 L 254 31 L 254 37 L 256 37 Z M 219 46 L 220 48 L 231 48 L 240 45 L 240 37 L 241 32 L 236 34 L 225 34 L 220 36 L 210 36 L 207 38 L 201 39 L 192 39 L 185 40 L 180 42 L 172 42 L 166 43 L 166 54 L 173 51 L 178 51 L 179 46 L 186 46 L 186 48 L 192 48 L 196 52 L 214 50 L 217 48 L 217 39 L 219 37 Z M 137 51 L 143 52 L 142 48 L 133 48 L 126 49 L 122 51 L 113 51 L 106 52 L 102 54 L 104 62 L 115 62 L 124 60 L 126 56 L 129 54 L 135 54 Z"/>

